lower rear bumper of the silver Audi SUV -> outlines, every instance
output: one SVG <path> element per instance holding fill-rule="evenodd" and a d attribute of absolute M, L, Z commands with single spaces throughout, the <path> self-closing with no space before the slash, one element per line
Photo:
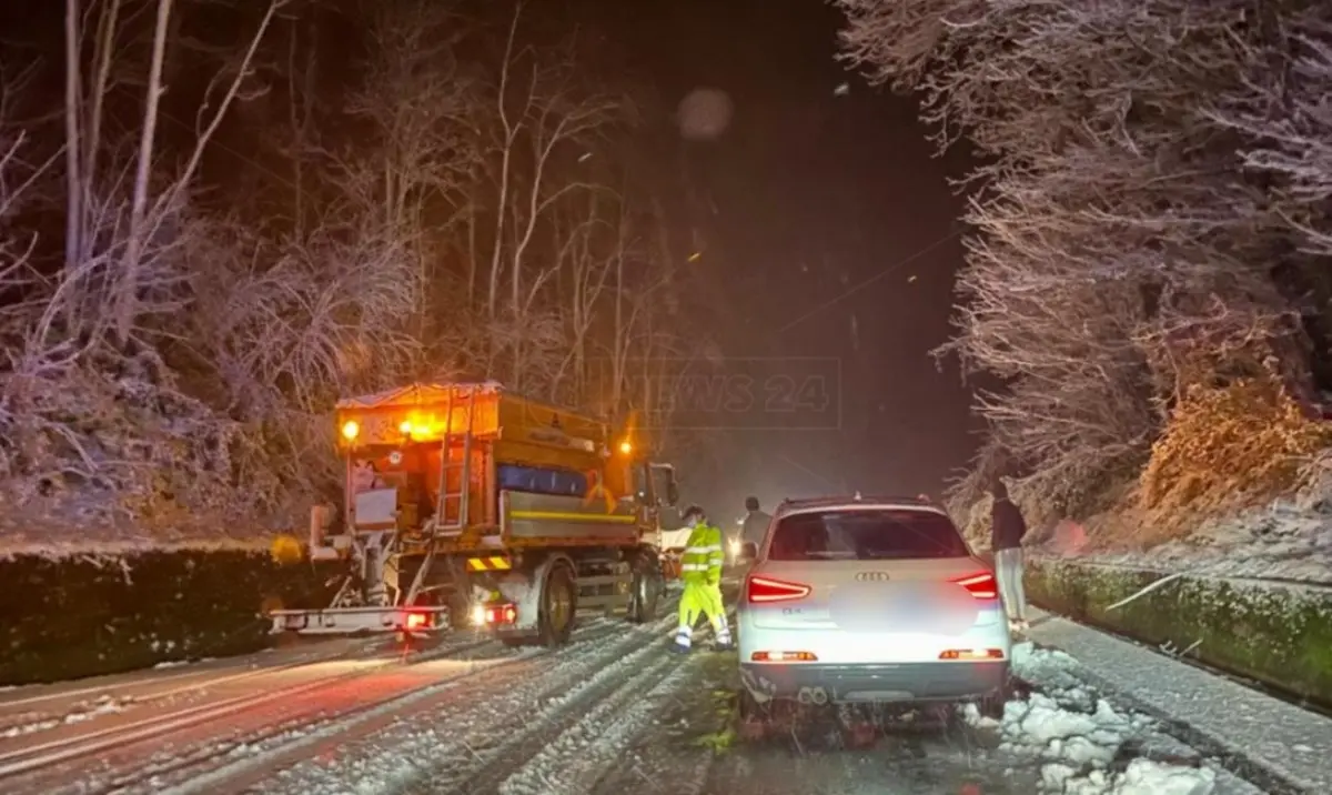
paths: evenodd
<path fill-rule="evenodd" d="M 745 686 L 778 698 L 822 688 L 834 702 L 966 700 L 1000 692 L 1008 661 L 898 664 L 741 663 Z"/>

